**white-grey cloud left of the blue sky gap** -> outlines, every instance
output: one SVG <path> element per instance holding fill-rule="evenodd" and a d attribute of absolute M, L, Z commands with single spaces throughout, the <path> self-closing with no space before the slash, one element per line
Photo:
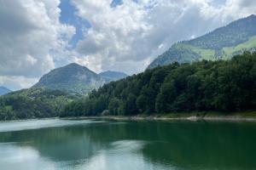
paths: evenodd
<path fill-rule="evenodd" d="M 0 81 L 41 77 L 55 68 L 55 54 L 65 50 L 75 31 L 59 22 L 58 0 L 0 0 Z M 54 53 L 53 53 L 54 52 Z M 22 82 L 24 81 L 24 82 Z"/>

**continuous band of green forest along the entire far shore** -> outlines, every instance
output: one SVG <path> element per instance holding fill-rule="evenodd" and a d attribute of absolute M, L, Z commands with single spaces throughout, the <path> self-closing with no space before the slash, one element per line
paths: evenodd
<path fill-rule="evenodd" d="M 256 109 L 256 53 L 160 66 L 88 96 L 30 88 L 0 97 L 0 120 Z M 61 115 L 60 115 L 61 113 Z"/>

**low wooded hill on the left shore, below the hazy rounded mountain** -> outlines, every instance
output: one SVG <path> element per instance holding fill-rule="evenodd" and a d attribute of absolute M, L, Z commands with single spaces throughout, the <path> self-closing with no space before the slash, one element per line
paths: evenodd
<path fill-rule="evenodd" d="M 65 105 L 78 98 L 59 90 L 23 89 L 0 97 L 0 120 L 59 116 Z"/>

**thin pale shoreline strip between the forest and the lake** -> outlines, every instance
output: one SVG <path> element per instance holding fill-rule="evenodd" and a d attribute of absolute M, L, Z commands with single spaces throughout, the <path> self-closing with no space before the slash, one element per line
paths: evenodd
<path fill-rule="evenodd" d="M 1 120 L 0 122 L 22 122 L 48 119 L 76 120 L 76 119 L 109 119 L 115 121 L 216 121 L 216 122 L 256 122 L 256 111 L 243 112 L 190 112 L 190 113 L 169 113 L 154 115 L 135 115 L 135 116 L 67 116 L 67 117 L 44 117 Z"/>

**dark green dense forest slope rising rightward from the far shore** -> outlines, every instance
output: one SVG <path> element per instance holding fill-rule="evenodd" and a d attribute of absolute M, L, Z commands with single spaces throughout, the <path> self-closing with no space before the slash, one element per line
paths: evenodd
<path fill-rule="evenodd" d="M 256 53 L 166 65 L 110 82 L 61 116 L 137 115 L 256 109 Z"/>

